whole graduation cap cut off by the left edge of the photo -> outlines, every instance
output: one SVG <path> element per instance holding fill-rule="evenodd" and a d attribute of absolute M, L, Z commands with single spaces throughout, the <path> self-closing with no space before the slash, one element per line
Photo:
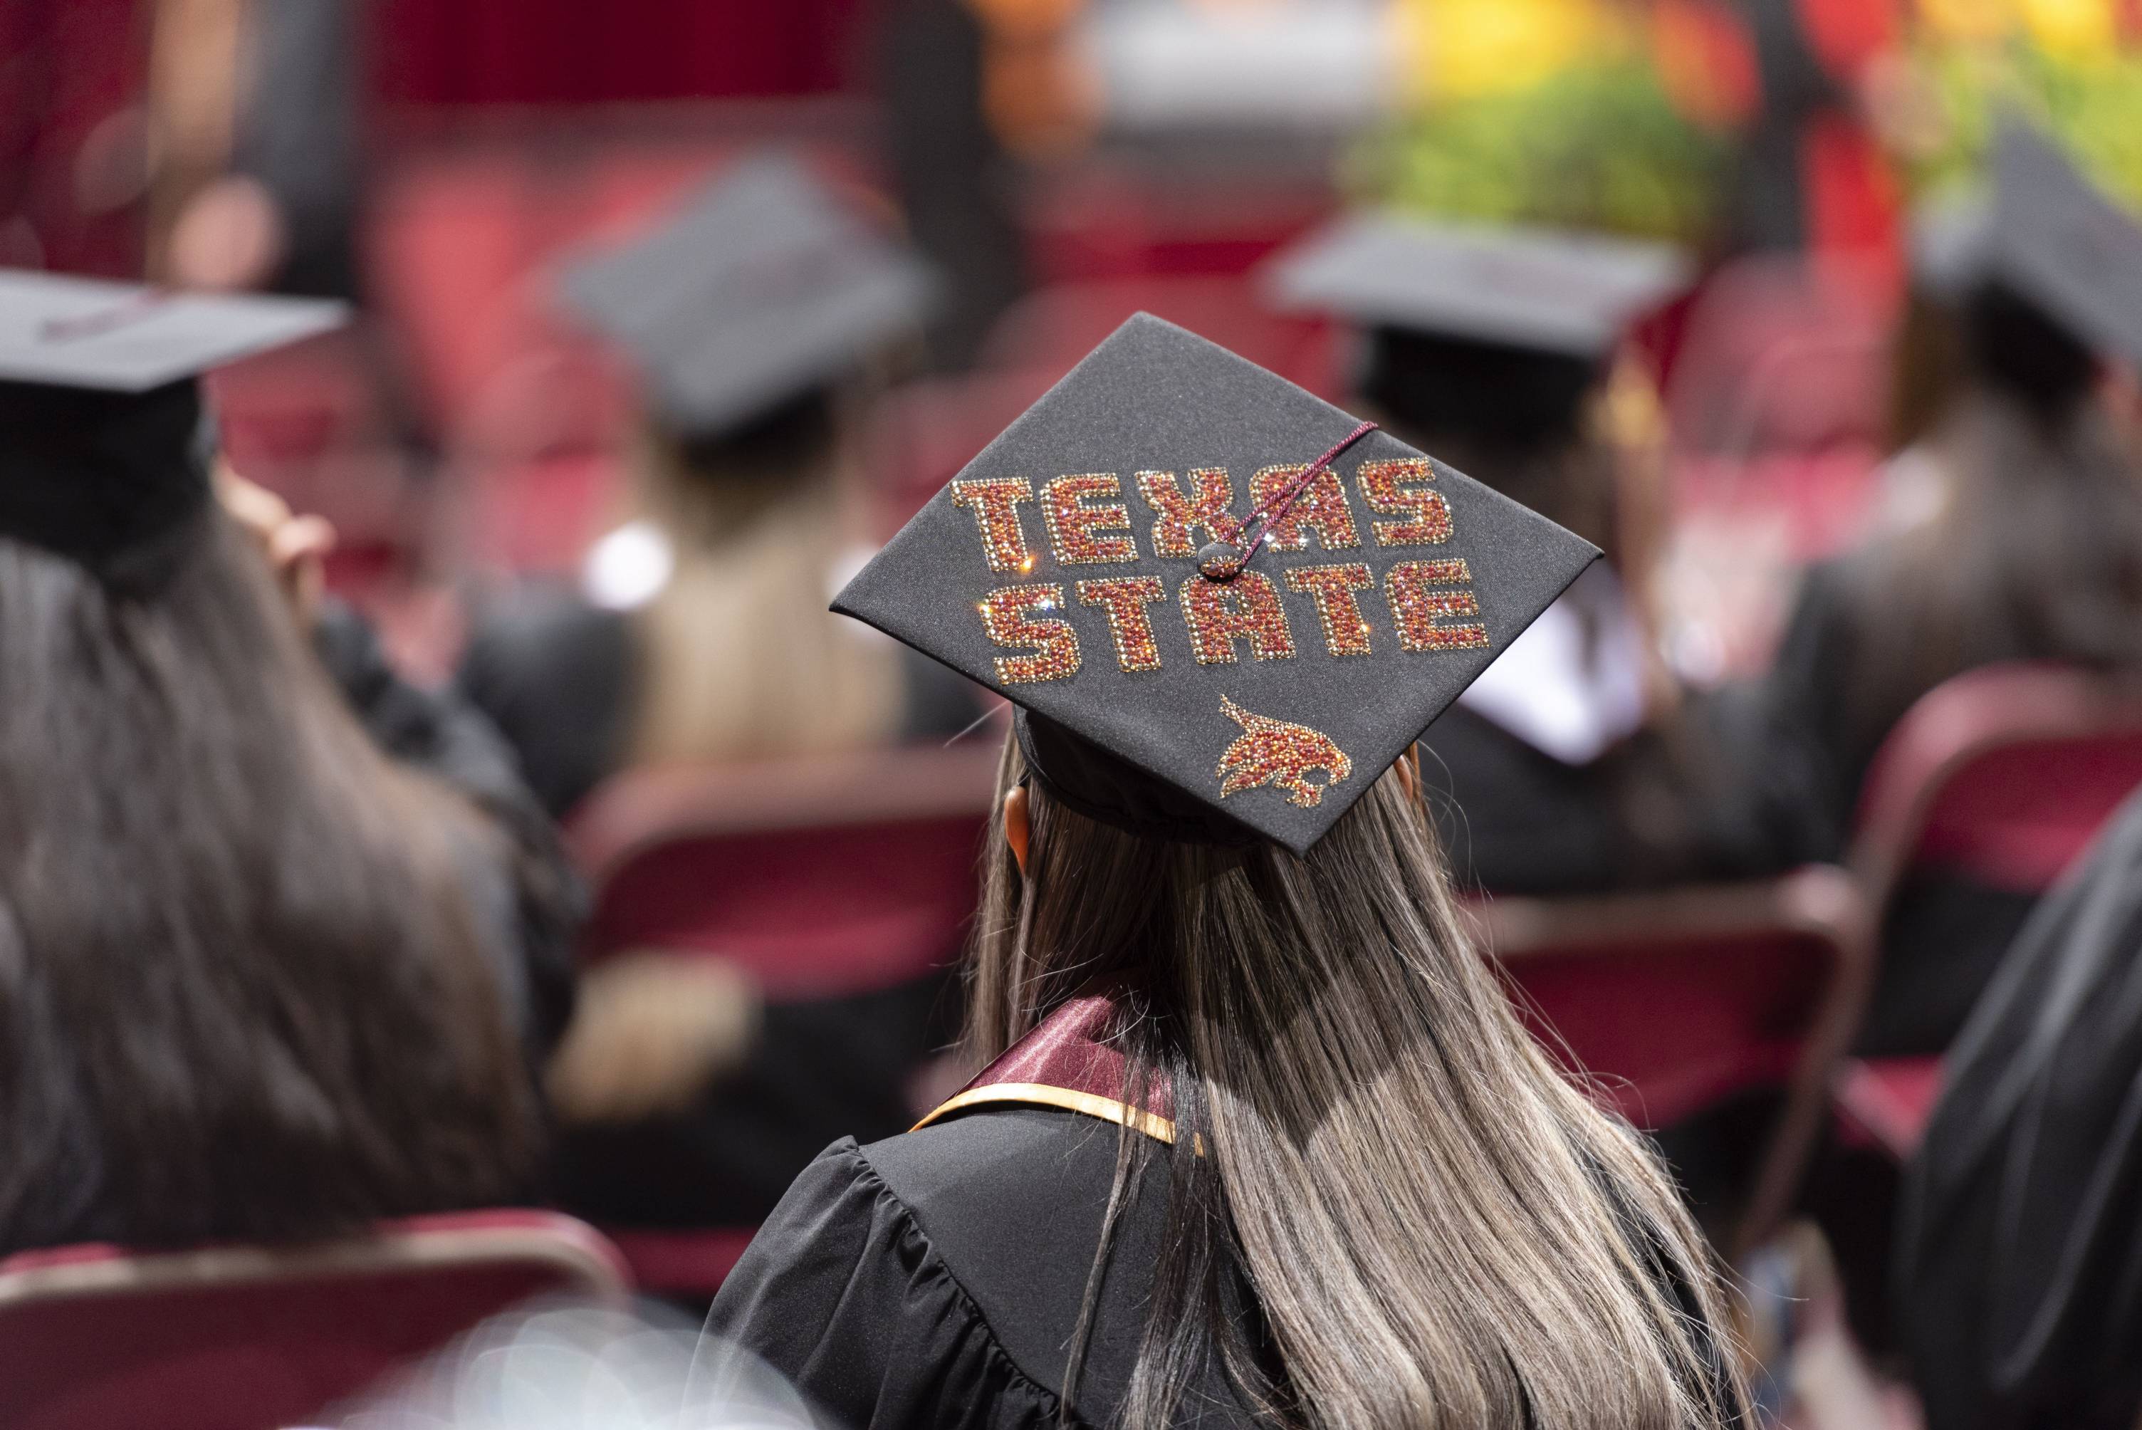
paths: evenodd
<path fill-rule="evenodd" d="M 195 377 L 345 317 L 336 302 L 0 270 L 0 537 L 154 589 L 210 499 Z"/>

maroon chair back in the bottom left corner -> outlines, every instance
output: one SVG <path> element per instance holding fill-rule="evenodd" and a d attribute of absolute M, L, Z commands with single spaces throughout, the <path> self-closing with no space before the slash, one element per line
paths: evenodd
<path fill-rule="evenodd" d="M 0 1426 L 278 1430 L 529 1297 L 621 1302 L 625 1267 L 548 1212 L 383 1222 L 298 1250 L 0 1261 Z"/>

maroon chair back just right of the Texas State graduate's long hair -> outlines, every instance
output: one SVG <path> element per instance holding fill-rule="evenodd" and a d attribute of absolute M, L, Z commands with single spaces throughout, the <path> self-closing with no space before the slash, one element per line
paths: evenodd
<path fill-rule="evenodd" d="M 1761 1242 L 1791 1205 L 1866 998 L 1870 925 L 1851 876 L 1493 899 L 1478 914 L 1527 1025 L 1639 1126 L 1784 1092 L 1735 1237 Z"/>

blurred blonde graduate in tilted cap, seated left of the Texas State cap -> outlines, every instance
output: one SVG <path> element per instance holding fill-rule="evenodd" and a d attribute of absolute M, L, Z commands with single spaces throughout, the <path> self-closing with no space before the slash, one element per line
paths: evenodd
<path fill-rule="evenodd" d="M 546 805 L 568 816 L 621 769 L 966 728 L 964 681 L 825 608 L 870 554 L 857 439 L 930 272 L 775 154 L 570 268 L 561 291 L 638 372 L 640 516 L 589 552 L 580 589 L 488 612 L 458 679 Z M 550 1077 L 565 1203 L 623 1224 L 756 1224 L 829 1137 L 912 1120 L 949 993 L 930 976 L 769 1002 L 720 959 L 604 959 Z"/>

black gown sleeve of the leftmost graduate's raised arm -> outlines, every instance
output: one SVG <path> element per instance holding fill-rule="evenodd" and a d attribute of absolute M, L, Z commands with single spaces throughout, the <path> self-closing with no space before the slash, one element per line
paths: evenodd
<path fill-rule="evenodd" d="M 540 1062 L 572 1017 L 574 938 L 587 912 L 585 886 L 557 831 L 521 784 L 512 749 L 491 721 L 450 691 L 418 689 L 401 679 L 356 610 L 326 602 L 313 646 L 390 758 L 458 790 L 508 839 L 512 867 L 501 873 L 510 908 L 501 916 L 510 927 L 491 942 L 501 955 L 501 972 L 516 983 L 523 1038 Z M 486 903 L 478 899 L 480 908 Z"/>

